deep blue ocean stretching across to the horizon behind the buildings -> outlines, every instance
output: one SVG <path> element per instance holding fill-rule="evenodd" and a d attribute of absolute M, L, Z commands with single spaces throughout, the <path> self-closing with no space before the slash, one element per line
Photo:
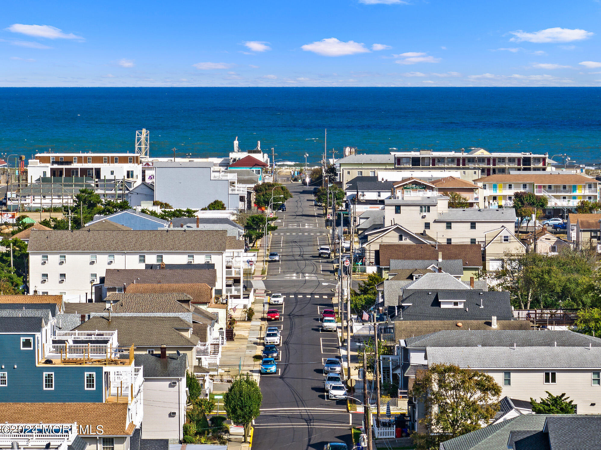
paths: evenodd
<path fill-rule="evenodd" d="M 324 150 L 567 153 L 599 163 L 601 88 L 0 88 L 0 151 L 134 151 L 227 156 L 261 141 L 275 159 Z"/>

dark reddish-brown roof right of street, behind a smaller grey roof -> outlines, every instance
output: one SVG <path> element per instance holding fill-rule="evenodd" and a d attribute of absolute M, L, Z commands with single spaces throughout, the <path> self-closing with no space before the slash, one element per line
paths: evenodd
<path fill-rule="evenodd" d="M 482 267 L 480 244 L 380 244 L 380 266 L 390 267 L 390 260 L 463 260 L 464 267 Z"/>

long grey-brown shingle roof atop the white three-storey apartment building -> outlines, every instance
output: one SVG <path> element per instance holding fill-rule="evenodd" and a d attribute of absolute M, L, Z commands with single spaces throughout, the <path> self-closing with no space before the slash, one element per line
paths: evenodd
<path fill-rule="evenodd" d="M 184 228 L 185 230 L 185 228 Z M 186 233 L 167 230 L 34 230 L 29 237 L 29 252 L 224 252 L 227 232 L 206 230 Z M 229 242 L 228 242 L 229 243 Z"/>

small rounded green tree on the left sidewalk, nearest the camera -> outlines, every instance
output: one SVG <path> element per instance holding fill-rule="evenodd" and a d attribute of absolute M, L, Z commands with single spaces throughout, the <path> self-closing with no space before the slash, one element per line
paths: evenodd
<path fill-rule="evenodd" d="M 253 377 L 240 374 L 231 383 L 230 389 L 224 394 L 224 407 L 228 419 L 234 424 L 244 425 L 244 442 L 248 442 L 248 431 L 251 422 L 260 412 L 263 395 Z"/>

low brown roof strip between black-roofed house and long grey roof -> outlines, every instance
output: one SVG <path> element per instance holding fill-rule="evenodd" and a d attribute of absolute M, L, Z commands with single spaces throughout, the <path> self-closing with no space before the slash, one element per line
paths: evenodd
<path fill-rule="evenodd" d="M 457 324 L 462 324 L 461 327 Z M 413 336 L 427 335 L 443 330 L 529 330 L 527 320 L 499 320 L 497 327 L 493 328 L 490 320 L 395 320 L 394 339 L 407 339 Z"/>

